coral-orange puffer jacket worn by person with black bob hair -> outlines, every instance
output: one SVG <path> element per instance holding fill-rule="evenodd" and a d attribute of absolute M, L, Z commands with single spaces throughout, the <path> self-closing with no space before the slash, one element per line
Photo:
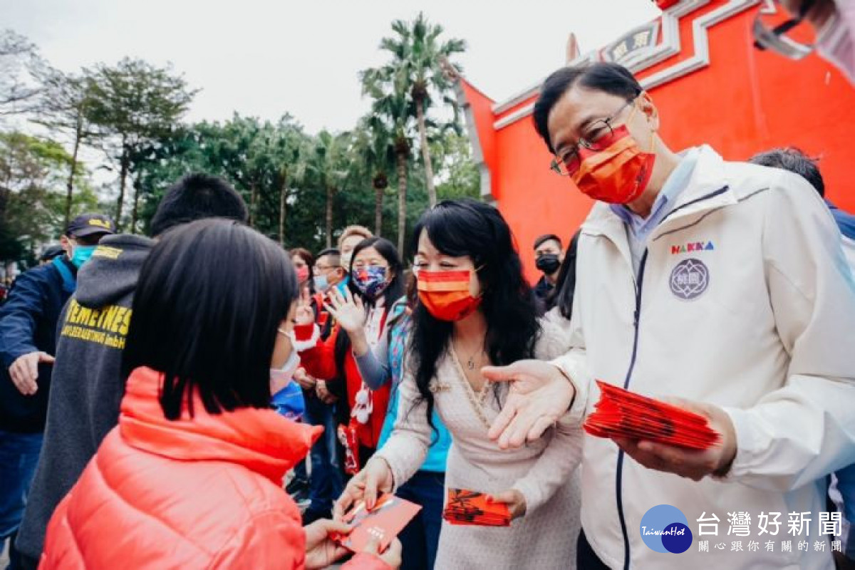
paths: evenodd
<path fill-rule="evenodd" d="M 273 410 L 163 417 L 161 375 L 127 380 L 119 425 L 50 519 L 40 568 L 303 568 L 288 469 L 322 428 Z M 358 555 L 351 570 L 389 567 Z"/>

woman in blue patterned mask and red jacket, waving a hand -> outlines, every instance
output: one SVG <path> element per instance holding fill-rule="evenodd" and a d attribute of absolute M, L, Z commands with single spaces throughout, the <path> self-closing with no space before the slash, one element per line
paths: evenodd
<path fill-rule="evenodd" d="M 356 357 L 388 335 L 404 315 L 406 297 L 404 265 L 388 239 L 363 239 L 347 271 L 351 278 L 344 293 L 333 289 L 327 295 L 325 308 L 336 320 L 329 337 L 320 338 L 305 298 L 295 332 L 306 372 L 326 380 L 327 389 L 346 401 L 346 407 L 339 406 L 338 420 L 345 430 L 345 467 L 356 473 L 377 449 L 389 403 L 389 385 L 372 390 L 359 373 Z"/>

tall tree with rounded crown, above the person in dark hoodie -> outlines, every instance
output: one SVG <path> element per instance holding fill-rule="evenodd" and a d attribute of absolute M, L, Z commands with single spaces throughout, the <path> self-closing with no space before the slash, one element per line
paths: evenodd
<path fill-rule="evenodd" d="M 119 163 L 119 197 L 115 222 L 121 227 L 128 175 L 134 162 L 144 161 L 151 144 L 168 138 L 185 115 L 196 91 L 172 68 L 156 68 L 139 59 L 125 58 L 114 67 L 98 64 L 85 74 L 91 78 L 86 119 L 113 139 L 109 154 Z M 135 185 L 131 231 L 138 217 L 140 185 Z"/>

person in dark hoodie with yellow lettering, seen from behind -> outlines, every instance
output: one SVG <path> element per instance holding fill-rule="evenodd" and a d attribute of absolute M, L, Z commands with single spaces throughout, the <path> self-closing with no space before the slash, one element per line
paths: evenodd
<path fill-rule="evenodd" d="M 50 515 L 118 422 L 125 394 L 121 351 L 133 291 L 157 236 L 193 220 L 228 218 L 245 223 L 247 217 L 243 198 L 225 180 L 191 174 L 169 188 L 158 205 L 150 224 L 154 239 L 109 236 L 80 272 L 77 291 L 60 319 L 44 451 L 15 543 L 22 568 L 38 565 Z M 200 261 L 185 262 L 189 266 Z M 230 260 L 221 263 L 228 271 Z"/>

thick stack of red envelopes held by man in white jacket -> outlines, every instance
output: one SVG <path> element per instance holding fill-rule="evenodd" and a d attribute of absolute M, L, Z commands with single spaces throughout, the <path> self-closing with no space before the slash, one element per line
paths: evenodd
<path fill-rule="evenodd" d="M 597 438 L 645 439 L 705 450 L 718 439 L 704 416 L 597 380 L 602 392 L 585 431 Z"/>

